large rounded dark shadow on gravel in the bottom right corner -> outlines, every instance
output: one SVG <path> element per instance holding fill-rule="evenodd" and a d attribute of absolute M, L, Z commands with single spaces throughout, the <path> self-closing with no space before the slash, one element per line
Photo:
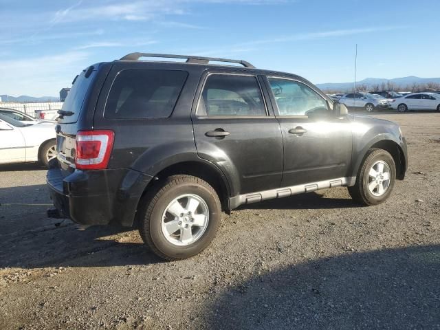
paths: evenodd
<path fill-rule="evenodd" d="M 206 329 L 440 329 L 440 245 L 307 261 L 228 288 Z"/>

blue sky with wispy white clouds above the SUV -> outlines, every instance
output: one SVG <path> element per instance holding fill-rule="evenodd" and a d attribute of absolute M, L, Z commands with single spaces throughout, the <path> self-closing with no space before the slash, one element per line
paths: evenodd
<path fill-rule="evenodd" d="M 58 96 L 131 52 L 236 58 L 312 83 L 440 77 L 439 0 L 0 0 L 0 94 Z"/>

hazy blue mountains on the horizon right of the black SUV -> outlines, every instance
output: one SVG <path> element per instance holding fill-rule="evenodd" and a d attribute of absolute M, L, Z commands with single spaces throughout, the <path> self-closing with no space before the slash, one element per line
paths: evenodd
<path fill-rule="evenodd" d="M 382 83 L 392 83 L 395 87 L 408 87 L 413 84 L 426 84 L 426 83 L 437 83 L 440 84 L 440 78 L 420 78 L 416 76 L 408 76 L 403 78 L 366 78 L 356 82 L 356 85 L 365 85 L 367 89 L 373 88 L 374 85 L 382 85 Z M 338 90 L 347 91 L 353 89 L 353 83 L 325 83 L 316 84 L 323 91 L 326 90 Z"/>

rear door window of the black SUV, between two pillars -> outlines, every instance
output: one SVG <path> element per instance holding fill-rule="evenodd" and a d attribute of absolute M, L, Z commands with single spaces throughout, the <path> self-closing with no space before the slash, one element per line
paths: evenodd
<path fill-rule="evenodd" d="M 266 115 L 261 89 L 254 76 L 208 76 L 197 115 Z"/>

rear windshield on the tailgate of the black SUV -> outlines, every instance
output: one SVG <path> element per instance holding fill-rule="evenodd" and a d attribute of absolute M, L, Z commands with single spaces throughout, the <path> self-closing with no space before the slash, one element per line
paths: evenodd
<path fill-rule="evenodd" d="M 86 77 L 85 71 L 81 72 L 78 78 L 74 80 L 74 85 L 72 85 L 72 89 L 70 89 L 69 94 L 67 94 L 67 98 L 65 99 L 63 107 L 61 108 L 61 110 L 70 111 L 73 114 L 65 115 L 64 118 L 59 120 L 60 122 L 72 123 L 78 120 L 87 90 L 89 89 L 90 83 L 93 81 L 96 74 L 96 70 L 94 70 L 89 76 Z"/>

